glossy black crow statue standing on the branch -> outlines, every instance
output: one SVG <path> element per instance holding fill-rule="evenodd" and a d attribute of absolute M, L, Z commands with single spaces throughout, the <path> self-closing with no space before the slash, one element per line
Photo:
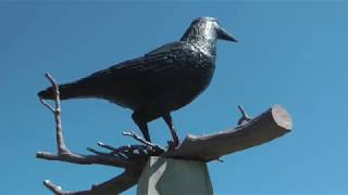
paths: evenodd
<path fill-rule="evenodd" d="M 60 98 L 105 99 L 130 108 L 132 118 L 147 141 L 150 141 L 147 122 L 162 117 L 171 130 L 172 144 L 177 146 L 171 112 L 194 101 L 209 86 L 215 69 L 216 39 L 236 41 L 215 18 L 199 17 L 179 41 L 61 84 Z M 54 98 L 52 88 L 38 95 Z"/>

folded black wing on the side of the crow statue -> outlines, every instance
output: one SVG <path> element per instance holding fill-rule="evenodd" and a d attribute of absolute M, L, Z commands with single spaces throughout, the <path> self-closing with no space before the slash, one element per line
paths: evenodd
<path fill-rule="evenodd" d="M 156 49 L 141 57 L 125 61 L 97 72 L 88 79 L 102 78 L 123 86 L 147 86 L 165 81 L 170 75 L 177 74 L 191 56 L 191 48 L 183 41 L 172 42 Z M 185 61 L 185 62 L 184 62 Z"/>

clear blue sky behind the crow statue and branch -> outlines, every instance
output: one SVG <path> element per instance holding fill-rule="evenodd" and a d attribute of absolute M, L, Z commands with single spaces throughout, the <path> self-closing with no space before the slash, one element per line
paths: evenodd
<path fill-rule="evenodd" d="M 83 190 L 121 169 L 35 158 L 55 150 L 53 118 L 36 93 L 179 39 L 191 20 L 213 16 L 239 40 L 220 41 L 209 89 L 173 114 L 181 138 L 235 126 L 237 104 L 258 115 L 278 103 L 294 131 L 211 162 L 215 194 L 348 193 L 348 2 L 0 2 L 0 194 L 49 194 L 45 179 Z M 133 143 L 130 110 L 98 100 L 62 103 L 71 150 Z M 170 139 L 162 120 L 153 140 Z M 125 194 L 134 194 L 135 188 Z"/>

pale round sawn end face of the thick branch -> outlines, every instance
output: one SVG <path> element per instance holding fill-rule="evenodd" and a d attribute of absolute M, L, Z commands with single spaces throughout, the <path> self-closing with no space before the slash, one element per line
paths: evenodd
<path fill-rule="evenodd" d="M 286 131 L 291 131 L 293 119 L 285 108 L 276 104 L 272 106 L 272 116 L 277 126 L 285 129 Z"/>

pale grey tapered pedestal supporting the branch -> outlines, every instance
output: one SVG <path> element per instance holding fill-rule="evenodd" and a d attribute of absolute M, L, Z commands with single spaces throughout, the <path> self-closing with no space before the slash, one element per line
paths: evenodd
<path fill-rule="evenodd" d="M 207 164 L 151 156 L 138 181 L 137 195 L 212 195 Z"/>

